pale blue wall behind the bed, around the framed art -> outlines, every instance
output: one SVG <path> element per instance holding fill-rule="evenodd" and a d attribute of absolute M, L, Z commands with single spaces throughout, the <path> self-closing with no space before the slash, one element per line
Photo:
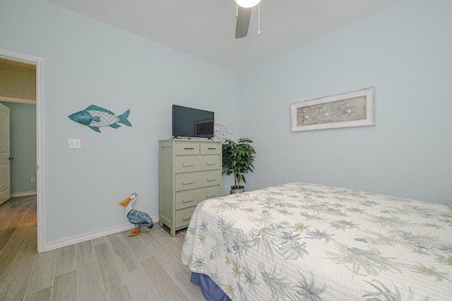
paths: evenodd
<path fill-rule="evenodd" d="M 248 187 L 452 199 L 452 1 L 407 0 L 242 74 Z M 291 133 L 290 104 L 375 86 L 376 126 Z"/>

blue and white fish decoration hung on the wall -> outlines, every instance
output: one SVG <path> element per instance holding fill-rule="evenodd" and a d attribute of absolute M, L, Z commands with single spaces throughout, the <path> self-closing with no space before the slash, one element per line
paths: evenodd
<path fill-rule="evenodd" d="M 99 128 L 102 126 L 112 126 L 114 129 L 121 127 L 118 123 L 132 126 L 129 120 L 127 120 L 129 114 L 130 110 L 127 110 L 119 116 L 114 116 L 112 111 L 106 110 L 103 107 L 97 107 L 97 105 L 90 105 L 83 111 L 69 115 L 69 118 L 74 122 L 89 126 L 94 131 L 100 133 Z"/>

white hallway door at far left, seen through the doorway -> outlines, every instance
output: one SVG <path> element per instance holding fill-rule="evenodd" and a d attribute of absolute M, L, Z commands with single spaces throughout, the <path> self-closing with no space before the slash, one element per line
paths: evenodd
<path fill-rule="evenodd" d="M 9 108 L 0 103 L 0 204 L 11 199 Z"/>

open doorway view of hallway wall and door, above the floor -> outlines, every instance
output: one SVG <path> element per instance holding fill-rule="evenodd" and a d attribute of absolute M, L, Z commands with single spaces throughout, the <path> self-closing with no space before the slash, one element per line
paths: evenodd
<path fill-rule="evenodd" d="M 35 65 L 0 58 L 0 103 L 2 203 L 8 196 L 36 194 Z"/>

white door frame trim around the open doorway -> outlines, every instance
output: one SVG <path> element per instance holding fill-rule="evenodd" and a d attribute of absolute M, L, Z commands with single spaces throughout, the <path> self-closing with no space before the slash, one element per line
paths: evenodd
<path fill-rule="evenodd" d="M 37 252 L 47 251 L 45 219 L 44 59 L 0 48 L 0 57 L 36 66 Z"/>

